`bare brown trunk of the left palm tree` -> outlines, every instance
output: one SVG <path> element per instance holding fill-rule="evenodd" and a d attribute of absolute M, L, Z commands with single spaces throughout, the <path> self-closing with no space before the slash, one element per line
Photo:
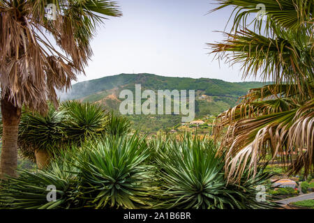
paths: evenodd
<path fill-rule="evenodd" d="M 6 95 L 1 99 L 2 113 L 2 149 L 0 160 L 0 178 L 16 176 L 17 168 L 17 136 L 20 123 L 21 108 L 13 105 Z"/>

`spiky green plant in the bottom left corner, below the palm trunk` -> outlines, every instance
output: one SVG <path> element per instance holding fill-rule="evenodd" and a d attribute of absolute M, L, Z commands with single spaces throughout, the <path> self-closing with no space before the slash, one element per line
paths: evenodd
<path fill-rule="evenodd" d="M 0 187 L 2 208 L 80 208 L 83 203 L 77 199 L 80 185 L 77 169 L 68 161 L 61 159 L 43 170 L 22 170 L 17 177 L 8 176 Z M 53 199 L 50 192 L 56 193 L 55 200 L 47 199 Z"/>

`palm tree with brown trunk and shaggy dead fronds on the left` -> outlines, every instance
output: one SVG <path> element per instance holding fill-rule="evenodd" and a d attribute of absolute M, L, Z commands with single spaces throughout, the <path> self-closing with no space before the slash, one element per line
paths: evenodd
<path fill-rule="evenodd" d="M 48 4 L 52 17 L 45 10 Z M 109 0 L 0 0 L 0 15 L 0 176 L 4 177 L 15 175 L 22 105 L 43 114 L 47 100 L 57 106 L 56 90 L 67 90 L 84 72 L 92 54 L 89 43 L 103 15 L 121 13 Z"/>

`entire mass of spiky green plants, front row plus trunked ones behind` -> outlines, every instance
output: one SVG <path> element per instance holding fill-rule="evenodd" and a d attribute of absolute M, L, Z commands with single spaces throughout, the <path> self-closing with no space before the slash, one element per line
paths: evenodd
<path fill-rule="evenodd" d="M 273 175 L 258 169 L 253 177 L 246 169 L 239 182 L 228 182 L 224 156 L 211 137 L 148 140 L 131 126 L 98 104 L 63 102 L 46 116 L 24 111 L 20 155 L 37 167 L 2 180 L 2 208 L 275 206 L 256 199 L 256 186 Z"/>

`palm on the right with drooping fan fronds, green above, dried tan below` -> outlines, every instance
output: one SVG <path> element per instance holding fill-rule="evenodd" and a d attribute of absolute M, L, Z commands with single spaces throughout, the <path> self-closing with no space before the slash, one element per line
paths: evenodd
<path fill-rule="evenodd" d="M 218 0 L 212 12 L 234 6 L 234 22 L 223 43 L 211 43 L 218 59 L 241 63 L 246 77 L 271 81 L 252 89 L 217 118 L 226 152 L 227 176 L 239 180 L 267 155 L 281 155 L 289 174 L 313 172 L 313 1 Z M 261 5 L 262 4 L 262 5 Z M 264 11 L 258 6 L 264 6 Z M 261 14 L 262 13 L 262 14 Z M 252 15 L 257 17 L 249 20 Z M 261 15 L 264 15 L 263 17 Z M 250 29 L 249 29 L 250 28 Z"/>

